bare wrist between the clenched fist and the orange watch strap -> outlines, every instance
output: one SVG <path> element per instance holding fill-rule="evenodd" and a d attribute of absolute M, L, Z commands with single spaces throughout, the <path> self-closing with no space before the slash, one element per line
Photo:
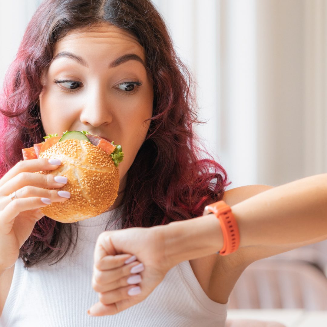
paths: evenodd
<path fill-rule="evenodd" d="M 165 258 L 171 267 L 185 260 L 214 254 L 223 246 L 220 222 L 205 215 L 164 226 Z"/>

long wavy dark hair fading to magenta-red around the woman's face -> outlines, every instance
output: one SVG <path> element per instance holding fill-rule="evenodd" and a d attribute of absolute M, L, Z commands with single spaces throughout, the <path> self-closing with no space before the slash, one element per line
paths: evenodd
<path fill-rule="evenodd" d="M 227 183 L 226 171 L 200 145 L 192 129 L 193 124 L 203 123 L 197 116 L 195 82 L 149 0 L 43 1 L 4 79 L 0 177 L 23 159 L 22 148 L 43 141 L 38 98 L 41 76 L 53 58 L 56 42 L 70 30 L 101 22 L 138 38 L 154 90 L 146 140 L 127 173 L 122 228 L 164 225 L 202 215 L 206 204 L 222 199 L 231 182 Z M 72 244 L 75 249 L 77 226 L 44 216 L 20 249 L 19 258 L 26 268 L 40 261 L 60 261 Z"/>

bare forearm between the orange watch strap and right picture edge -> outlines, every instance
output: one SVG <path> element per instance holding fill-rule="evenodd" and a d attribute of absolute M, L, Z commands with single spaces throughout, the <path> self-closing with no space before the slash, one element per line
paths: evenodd
<path fill-rule="evenodd" d="M 293 181 L 232 207 L 240 246 L 296 245 L 327 237 L 327 174 Z"/>

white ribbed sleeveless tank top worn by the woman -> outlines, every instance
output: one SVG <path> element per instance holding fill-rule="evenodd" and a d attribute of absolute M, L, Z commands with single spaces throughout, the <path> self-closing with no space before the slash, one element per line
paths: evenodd
<path fill-rule="evenodd" d="M 117 208 L 79 222 L 77 246 L 59 263 L 25 269 L 17 260 L 0 318 L 1 327 L 225 327 L 227 306 L 212 301 L 195 277 L 189 261 L 171 268 L 142 302 L 113 316 L 90 317 L 98 302 L 92 288 L 93 252 Z M 111 230 L 121 228 L 121 221 Z"/>

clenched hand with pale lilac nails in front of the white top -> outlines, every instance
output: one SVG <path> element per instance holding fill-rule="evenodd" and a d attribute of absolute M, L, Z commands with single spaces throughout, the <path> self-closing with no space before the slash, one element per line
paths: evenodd
<path fill-rule="evenodd" d="M 162 282 L 173 267 L 165 257 L 163 229 L 163 226 L 135 227 L 99 235 L 92 278 L 99 302 L 90 308 L 90 315 L 121 312 L 145 300 Z M 126 260 L 129 263 L 125 264 Z M 136 271 L 131 271 L 131 268 Z"/>

